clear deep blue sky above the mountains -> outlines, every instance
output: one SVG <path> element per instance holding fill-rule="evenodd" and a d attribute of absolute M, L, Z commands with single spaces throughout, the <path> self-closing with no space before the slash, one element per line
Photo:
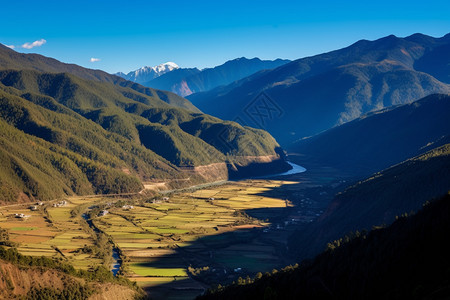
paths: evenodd
<path fill-rule="evenodd" d="M 166 61 L 204 68 L 242 56 L 297 59 L 359 39 L 450 32 L 448 0 L 8 2 L 0 5 L 0 43 L 107 72 Z"/>

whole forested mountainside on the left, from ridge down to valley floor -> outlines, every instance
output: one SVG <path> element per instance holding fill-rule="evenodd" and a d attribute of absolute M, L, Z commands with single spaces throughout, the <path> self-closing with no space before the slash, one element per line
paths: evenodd
<path fill-rule="evenodd" d="M 289 168 L 265 131 L 202 114 L 171 92 L 3 45 L 0 166 L 0 203 Z"/>

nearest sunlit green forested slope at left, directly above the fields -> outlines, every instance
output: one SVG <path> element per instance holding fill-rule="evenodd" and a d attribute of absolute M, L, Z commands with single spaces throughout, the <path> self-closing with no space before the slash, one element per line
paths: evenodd
<path fill-rule="evenodd" d="M 137 192 L 142 187 L 138 178 L 177 174 L 151 151 L 79 116 L 57 114 L 1 92 L 0 101 L 3 201 L 15 201 L 22 192 L 42 200 Z"/>

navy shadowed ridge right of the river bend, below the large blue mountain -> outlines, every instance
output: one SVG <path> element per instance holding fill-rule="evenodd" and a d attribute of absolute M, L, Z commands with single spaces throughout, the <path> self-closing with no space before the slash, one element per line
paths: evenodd
<path fill-rule="evenodd" d="M 291 159 L 314 161 L 344 174 L 368 176 L 450 141 L 449 95 L 364 115 L 293 143 Z"/>

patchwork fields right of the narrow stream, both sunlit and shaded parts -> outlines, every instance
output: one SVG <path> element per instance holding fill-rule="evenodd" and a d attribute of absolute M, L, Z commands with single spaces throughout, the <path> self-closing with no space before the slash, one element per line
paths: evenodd
<path fill-rule="evenodd" d="M 279 265 L 274 245 L 252 245 L 269 222 L 245 211 L 290 207 L 289 201 L 263 194 L 293 183 L 247 180 L 146 201 L 128 200 L 124 203 L 132 209 L 110 207 L 93 223 L 120 248 L 124 274 L 144 288 L 161 281 L 170 287 L 187 276 L 196 278 L 201 272 L 194 276 L 195 270 L 205 267 L 210 277 L 216 273 L 218 278 L 223 274 L 231 278 L 236 268 L 256 272 Z"/>

